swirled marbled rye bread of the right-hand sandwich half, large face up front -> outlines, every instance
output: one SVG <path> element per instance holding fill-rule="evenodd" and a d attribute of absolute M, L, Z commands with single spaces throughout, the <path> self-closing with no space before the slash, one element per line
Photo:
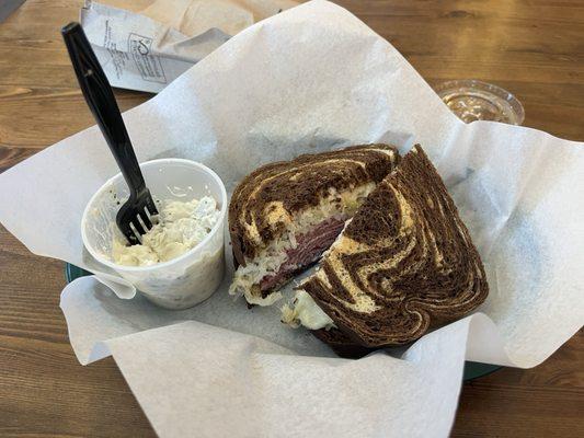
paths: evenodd
<path fill-rule="evenodd" d="M 335 350 L 403 345 L 474 310 L 489 287 L 442 178 L 415 146 L 300 286 L 339 331 Z"/>

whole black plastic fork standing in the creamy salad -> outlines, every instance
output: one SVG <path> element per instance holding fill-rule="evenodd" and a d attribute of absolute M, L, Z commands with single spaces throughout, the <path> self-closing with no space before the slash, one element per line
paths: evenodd
<path fill-rule="evenodd" d="M 83 28 L 79 23 L 72 22 L 62 27 L 61 34 L 83 96 L 129 187 L 129 199 L 122 205 L 116 216 L 117 227 L 130 244 L 138 244 L 140 235 L 152 228 L 150 217 L 158 215 L 158 210 L 146 187 L 112 87 Z"/>

